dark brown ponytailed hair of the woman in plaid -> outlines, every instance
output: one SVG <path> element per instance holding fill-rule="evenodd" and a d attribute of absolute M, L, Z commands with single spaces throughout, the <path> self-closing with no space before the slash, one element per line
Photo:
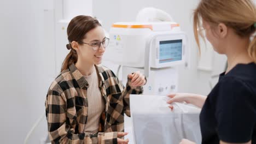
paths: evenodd
<path fill-rule="evenodd" d="M 77 52 L 72 48 L 72 41 L 77 41 L 79 44 L 82 44 L 81 41 L 85 38 L 85 34 L 88 33 L 91 29 L 94 29 L 97 26 L 101 26 L 98 20 L 94 19 L 91 16 L 79 15 L 74 17 L 68 24 L 67 27 L 67 36 L 68 42 L 67 49 L 71 50 L 66 56 L 65 60 L 62 63 L 61 72 L 65 69 L 68 69 L 69 65 L 77 62 Z"/>

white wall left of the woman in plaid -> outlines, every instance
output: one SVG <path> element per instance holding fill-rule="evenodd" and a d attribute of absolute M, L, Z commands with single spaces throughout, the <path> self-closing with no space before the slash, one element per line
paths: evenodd
<path fill-rule="evenodd" d="M 1 143 L 23 143 L 36 119 L 44 113 L 50 85 L 48 47 L 43 43 L 43 5 L 39 0 L 1 1 L 0 9 L 0 92 Z M 45 119 L 45 118 L 44 118 Z M 29 140 L 39 143 L 46 134 L 39 125 Z"/>

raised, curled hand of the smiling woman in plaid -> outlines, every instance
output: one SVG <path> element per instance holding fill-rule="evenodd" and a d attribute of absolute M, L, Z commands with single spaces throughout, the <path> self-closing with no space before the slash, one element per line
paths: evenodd
<path fill-rule="evenodd" d="M 131 83 L 129 84 L 132 88 L 144 86 L 146 84 L 145 76 L 141 74 L 139 71 L 136 71 L 133 74 L 129 74 L 128 78 L 131 79 Z"/>

